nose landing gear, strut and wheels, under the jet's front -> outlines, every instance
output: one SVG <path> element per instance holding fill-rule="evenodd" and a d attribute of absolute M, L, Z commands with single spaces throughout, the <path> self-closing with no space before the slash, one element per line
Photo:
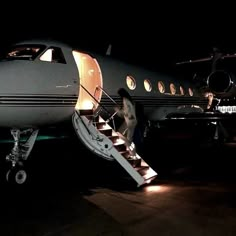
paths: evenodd
<path fill-rule="evenodd" d="M 26 141 L 21 140 L 21 135 L 27 133 L 29 133 L 28 139 Z M 27 179 L 24 161 L 27 160 L 34 146 L 38 130 L 26 129 L 21 131 L 12 129 L 11 135 L 14 138 L 14 147 L 10 154 L 6 156 L 6 161 L 11 163 L 11 167 L 6 173 L 6 180 L 13 184 L 23 184 Z"/>

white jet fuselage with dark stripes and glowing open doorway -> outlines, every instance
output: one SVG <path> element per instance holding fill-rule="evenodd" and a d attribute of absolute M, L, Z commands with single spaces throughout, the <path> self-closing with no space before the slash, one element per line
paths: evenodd
<path fill-rule="evenodd" d="M 27 55 L 27 50 L 34 52 Z M 52 51 L 57 50 L 61 54 L 55 57 L 62 57 L 61 61 L 53 60 Z M 62 122 L 71 119 L 75 108 L 85 109 L 87 100 L 95 108 L 98 101 L 112 109 L 114 103 L 109 96 L 117 99 L 120 87 L 143 102 L 150 120 L 162 119 L 178 107 L 191 106 L 199 100 L 199 94 L 189 83 L 110 57 L 79 52 L 57 42 L 22 42 L 6 55 L 0 61 L 0 127 L 36 128 Z M 132 89 L 127 87 L 127 76 L 135 80 Z M 164 93 L 158 91 L 159 81 L 165 84 Z M 169 88 L 171 83 L 176 86 L 174 94 Z M 182 94 L 180 86 L 184 89 Z M 189 94 L 189 89 L 196 95 Z"/>

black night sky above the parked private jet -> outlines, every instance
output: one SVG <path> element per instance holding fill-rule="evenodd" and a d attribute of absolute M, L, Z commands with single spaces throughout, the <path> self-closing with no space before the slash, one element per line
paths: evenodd
<path fill-rule="evenodd" d="M 157 70 L 236 52 L 236 15 L 226 2 L 9 2 L 1 8 L 1 45 L 28 38 L 63 40 Z"/>

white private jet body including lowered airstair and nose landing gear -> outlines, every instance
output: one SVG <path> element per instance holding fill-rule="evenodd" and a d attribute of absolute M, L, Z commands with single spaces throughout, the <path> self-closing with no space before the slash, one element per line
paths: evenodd
<path fill-rule="evenodd" d="M 149 124 L 173 114 L 204 113 L 208 102 L 192 81 L 56 41 L 12 45 L 1 56 L 0 73 L 0 128 L 9 129 L 14 139 L 6 179 L 17 184 L 27 179 L 24 163 L 39 130 L 65 121 L 91 152 L 116 160 L 138 186 L 150 183 L 157 173 L 139 154 L 130 159 L 117 131 L 118 88 L 142 103 Z"/>

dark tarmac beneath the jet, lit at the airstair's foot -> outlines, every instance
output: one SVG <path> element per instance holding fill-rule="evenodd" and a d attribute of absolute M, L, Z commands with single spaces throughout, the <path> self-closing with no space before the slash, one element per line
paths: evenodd
<path fill-rule="evenodd" d="M 28 183 L 0 184 L 0 235 L 236 235 L 235 144 L 165 145 L 165 156 L 146 150 L 159 176 L 137 188 L 77 140 L 39 142 Z"/>

